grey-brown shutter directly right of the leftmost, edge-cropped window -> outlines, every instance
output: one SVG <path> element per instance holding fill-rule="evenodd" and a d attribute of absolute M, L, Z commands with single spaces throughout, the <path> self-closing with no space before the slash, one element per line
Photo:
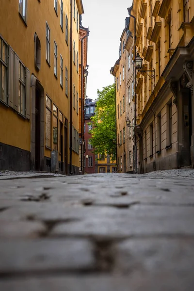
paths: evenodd
<path fill-rule="evenodd" d="M 14 50 L 9 47 L 9 106 L 14 107 Z"/>

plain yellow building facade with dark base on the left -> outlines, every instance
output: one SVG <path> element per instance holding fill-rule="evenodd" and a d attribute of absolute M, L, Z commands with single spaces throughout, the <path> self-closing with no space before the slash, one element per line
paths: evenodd
<path fill-rule="evenodd" d="M 71 2 L 1 3 L 0 170 L 79 172 L 83 5 Z"/>

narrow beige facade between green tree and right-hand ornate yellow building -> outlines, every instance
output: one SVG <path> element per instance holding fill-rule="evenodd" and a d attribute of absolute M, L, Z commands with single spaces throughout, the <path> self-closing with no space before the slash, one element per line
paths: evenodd
<path fill-rule="evenodd" d="M 129 31 L 129 17 L 120 38 L 119 59 L 111 68 L 116 89 L 117 172 L 133 172 L 133 38 Z M 130 124 L 127 127 L 126 120 Z"/>

